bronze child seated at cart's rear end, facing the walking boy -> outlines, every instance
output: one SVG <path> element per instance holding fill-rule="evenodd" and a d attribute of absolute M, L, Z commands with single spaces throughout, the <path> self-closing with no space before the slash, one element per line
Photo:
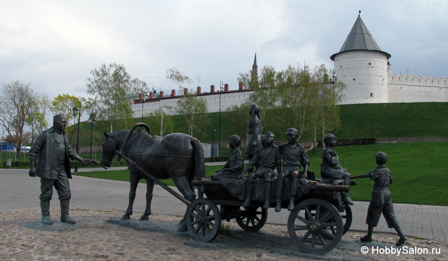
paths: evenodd
<path fill-rule="evenodd" d="M 348 186 L 350 190 L 351 176 L 339 164 L 339 157 L 337 157 L 336 151 L 333 147 L 336 146 L 336 136 L 333 134 L 327 134 L 324 136 L 325 149 L 322 153 L 322 165 L 321 176 L 322 178 L 330 179 L 342 179 L 344 185 Z M 342 200 L 350 205 L 353 205 L 353 200 L 348 196 L 348 192 L 345 192 Z"/>

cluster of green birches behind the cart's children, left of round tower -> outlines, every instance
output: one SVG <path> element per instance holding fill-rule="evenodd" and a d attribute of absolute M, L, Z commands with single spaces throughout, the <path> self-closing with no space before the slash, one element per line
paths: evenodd
<path fill-rule="evenodd" d="M 313 72 L 309 66 L 289 65 L 279 72 L 271 66 L 265 66 L 260 70 L 258 81 L 250 77 L 254 72 L 240 74 L 238 82 L 253 93 L 240 106 L 227 108 L 225 116 L 239 126 L 246 125 L 248 118 L 243 115 L 247 113 L 249 105 L 255 103 L 261 108 L 263 133 L 283 133 L 291 127 L 298 130 L 299 139 L 310 139 L 316 132 L 325 133 L 339 123 L 336 104 L 344 88 L 343 83 L 331 85 L 328 75 L 326 81 L 324 75 L 327 72 L 328 69 L 322 64 Z"/>

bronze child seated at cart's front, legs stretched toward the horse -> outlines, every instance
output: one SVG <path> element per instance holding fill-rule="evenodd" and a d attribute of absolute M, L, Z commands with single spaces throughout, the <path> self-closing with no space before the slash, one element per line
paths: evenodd
<path fill-rule="evenodd" d="M 232 135 L 228 140 L 228 147 L 231 150 L 230 158 L 228 162 L 224 165 L 222 170 L 216 172 L 215 175 L 212 176 L 212 180 L 221 180 L 221 179 L 229 179 L 229 178 L 239 178 L 242 177 L 244 158 L 239 150 L 239 145 L 241 144 L 241 138 L 238 135 Z"/>

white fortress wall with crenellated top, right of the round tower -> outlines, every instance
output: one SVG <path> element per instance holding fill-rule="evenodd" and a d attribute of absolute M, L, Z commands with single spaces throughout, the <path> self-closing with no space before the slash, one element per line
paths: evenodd
<path fill-rule="evenodd" d="M 448 78 L 388 75 L 389 102 L 448 102 Z"/>

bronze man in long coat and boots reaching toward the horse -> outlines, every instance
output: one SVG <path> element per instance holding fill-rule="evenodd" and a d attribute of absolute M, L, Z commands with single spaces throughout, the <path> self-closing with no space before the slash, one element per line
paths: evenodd
<path fill-rule="evenodd" d="M 72 178 L 70 161 L 78 160 L 84 165 L 91 163 L 88 159 L 81 158 L 70 146 L 65 134 L 67 121 L 62 114 L 53 117 L 53 127 L 42 131 L 37 136 L 29 150 L 29 175 L 40 177 L 40 208 L 42 211 L 42 223 L 53 224 L 50 218 L 50 200 L 53 196 L 53 186 L 58 192 L 61 201 L 61 222 L 75 224 L 68 211 L 70 206 L 70 184 Z M 37 171 L 34 163 L 37 161 Z"/>

